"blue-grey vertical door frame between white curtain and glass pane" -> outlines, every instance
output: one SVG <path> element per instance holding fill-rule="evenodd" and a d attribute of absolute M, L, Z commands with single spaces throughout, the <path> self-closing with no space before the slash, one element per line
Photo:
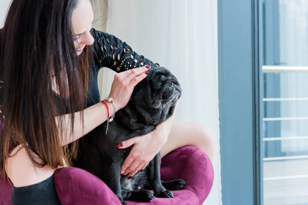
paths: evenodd
<path fill-rule="evenodd" d="M 218 0 L 223 205 L 263 204 L 262 2 Z"/>

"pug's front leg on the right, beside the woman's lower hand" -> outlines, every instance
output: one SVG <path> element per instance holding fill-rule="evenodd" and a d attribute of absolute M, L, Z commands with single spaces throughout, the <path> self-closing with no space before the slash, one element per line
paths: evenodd
<path fill-rule="evenodd" d="M 162 186 L 161 177 L 160 177 L 160 166 L 161 166 L 161 156 L 160 152 L 153 158 L 149 163 L 149 166 L 146 168 L 148 173 L 148 179 L 150 182 L 150 187 L 153 189 L 153 192 L 156 197 L 159 198 L 174 198 L 174 195 L 169 190 L 166 190 Z"/>

